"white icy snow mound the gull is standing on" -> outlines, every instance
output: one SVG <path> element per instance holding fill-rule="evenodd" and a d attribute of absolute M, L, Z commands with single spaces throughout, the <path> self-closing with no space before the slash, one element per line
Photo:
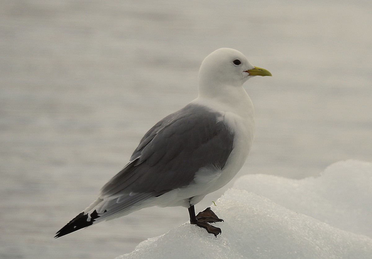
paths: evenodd
<path fill-rule="evenodd" d="M 212 210 L 215 238 L 185 223 L 119 258 L 372 258 L 372 163 L 337 162 L 316 178 L 239 178 Z"/>

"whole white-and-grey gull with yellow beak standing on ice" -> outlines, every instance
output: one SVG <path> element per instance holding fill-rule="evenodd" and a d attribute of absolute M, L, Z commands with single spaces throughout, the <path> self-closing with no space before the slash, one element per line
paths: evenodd
<path fill-rule="evenodd" d="M 55 238 L 155 205 L 186 207 L 191 224 L 221 234 L 209 223 L 223 220 L 211 208 L 196 215 L 194 206 L 230 182 L 246 161 L 254 110 L 243 83 L 257 75 L 271 73 L 235 49 L 209 54 L 199 70 L 198 97 L 148 130 L 124 169 Z"/>

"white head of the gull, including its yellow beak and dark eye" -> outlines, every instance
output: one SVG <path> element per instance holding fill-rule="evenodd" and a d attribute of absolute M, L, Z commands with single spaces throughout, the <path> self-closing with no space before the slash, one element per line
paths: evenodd
<path fill-rule="evenodd" d="M 242 87 L 255 75 L 271 74 L 266 69 L 254 67 L 235 49 L 217 49 L 204 59 L 199 69 L 199 96 L 213 96 L 226 87 Z"/>

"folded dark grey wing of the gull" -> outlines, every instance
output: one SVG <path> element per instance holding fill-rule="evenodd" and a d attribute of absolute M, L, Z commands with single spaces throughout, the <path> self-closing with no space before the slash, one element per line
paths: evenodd
<path fill-rule="evenodd" d="M 234 135 L 219 113 L 189 104 L 155 124 L 130 162 L 101 189 L 100 198 L 130 193 L 161 195 L 187 186 L 200 168 L 222 169 Z"/>

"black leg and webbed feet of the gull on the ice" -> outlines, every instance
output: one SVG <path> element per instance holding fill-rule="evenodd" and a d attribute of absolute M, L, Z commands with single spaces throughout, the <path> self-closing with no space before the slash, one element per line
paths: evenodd
<path fill-rule="evenodd" d="M 208 233 L 214 234 L 215 237 L 217 237 L 218 234 L 221 234 L 221 229 L 219 227 L 212 226 L 209 223 L 221 222 L 224 220 L 218 218 L 211 208 L 206 208 L 195 216 L 195 207 L 194 205 L 191 205 L 189 208 L 189 214 L 191 224 L 202 227 Z"/>

